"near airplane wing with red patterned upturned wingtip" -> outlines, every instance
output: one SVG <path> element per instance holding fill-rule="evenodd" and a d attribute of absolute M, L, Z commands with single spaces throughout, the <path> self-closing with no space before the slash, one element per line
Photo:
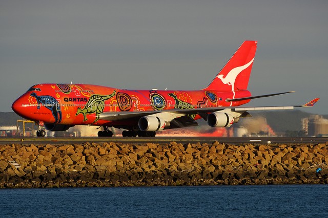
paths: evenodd
<path fill-rule="evenodd" d="M 165 111 L 104 112 L 100 114 L 99 119 L 107 120 L 107 121 L 118 121 L 118 120 L 140 118 L 140 117 L 151 115 L 151 116 L 163 118 L 166 121 L 178 120 L 180 123 L 177 125 L 179 125 L 180 127 L 186 127 L 186 126 L 197 125 L 197 122 L 190 117 L 188 117 L 187 120 L 185 118 L 181 118 L 181 117 L 186 117 L 186 115 L 198 114 L 201 117 L 206 118 L 206 115 L 209 113 L 224 111 L 224 113 L 230 113 L 234 117 L 240 117 L 240 116 L 245 117 L 245 116 L 249 116 L 247 111 L 293 110 L 295 107 L 313 106 L 318 100 L 319 98 L 315 98 L 306 104 L 294 105 L 294 106 L 199 107 L 199 108 L 192 108 L 192 109 L 185 109 L 185 110 L 172 109 L 172 110 L 165 110 Z"/>

